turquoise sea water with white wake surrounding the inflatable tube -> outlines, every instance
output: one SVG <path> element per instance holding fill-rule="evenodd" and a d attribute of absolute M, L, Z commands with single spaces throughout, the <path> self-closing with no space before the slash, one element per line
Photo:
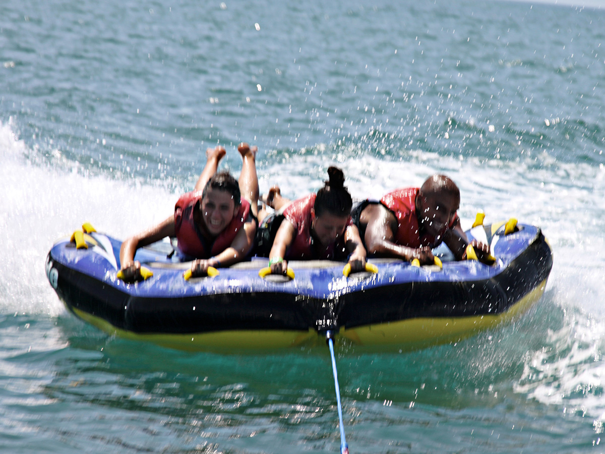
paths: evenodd
<path fill-rule="evenodd" d="M 584 453 L 605 418 L 605 11 L 548 3 L 0 3 L 0 450 L 338 452 L 327 348 L 188 354 L 65 311 L 52 243 L 165 219 L 227 146 L 261 191 L 355 197 L 436 171 L 469 226 L 540 225 L 522 320 L 455 345 L 336 350 L 352 453 Z"/>

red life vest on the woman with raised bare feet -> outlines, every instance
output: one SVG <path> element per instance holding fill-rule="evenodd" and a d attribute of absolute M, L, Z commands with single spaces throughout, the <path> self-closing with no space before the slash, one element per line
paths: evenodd
<path fill-rule="evenodd" d="M 177 235 L 178 249 L 185 255 L 195 258 L 210 258 L 220 254 L 231 246 L 241 228 L 243 228 L 250 212 L 250 203 L 241 199 L 240 209 L 229 225 L 212 237 L 206 231 L 206 226 L 198 226 L 194 222 L 195 205 L 200 203 L 201 191 L 183 194 L 174 206 L 174 229 Z"/>

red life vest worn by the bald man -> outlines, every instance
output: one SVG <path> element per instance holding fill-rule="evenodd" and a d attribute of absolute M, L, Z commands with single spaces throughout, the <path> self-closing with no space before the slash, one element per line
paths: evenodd
<path fill-rule="evenodd" d="M 429 246 L 434 248 L 442 240 L 436 240 L 433 235 L 420 235 L 418 225 L 418 215 L 416 212 L 416 196 L 419 188 L 395 189 L 393 192 L 385 194 L 380 199 L 382 205 L 390 209 L 397 218 L 397 231 L 395 233 L 395 243 L 408 248 L 420 248 Z M 457 222 L 457 215 L 451 220 L 448 228 L 452 228 Z"/>

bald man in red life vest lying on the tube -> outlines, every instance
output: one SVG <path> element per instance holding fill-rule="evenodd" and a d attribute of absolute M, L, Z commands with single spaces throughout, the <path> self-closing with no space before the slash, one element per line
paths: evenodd
<path fill-rule="evenodd" d="M 374 257 L 417 258 L 421 265 L 434 262 L 433 248 L 445 243 L 456 257 L 466 258 L 469 241 L 457 211 L 460 190 L 445 175 L 429 177 L 420 188 L 396 189 L 379 202 L 364 200 L 353 207 L 368 254 Z M 489 263 L 489 248 L 471 243 L 479 260 Z"/>

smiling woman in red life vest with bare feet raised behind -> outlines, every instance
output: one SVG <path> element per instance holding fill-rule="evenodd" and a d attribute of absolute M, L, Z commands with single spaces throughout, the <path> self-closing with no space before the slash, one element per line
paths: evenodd
<path fill-rule="evenodd" d="M 194 191 L 178 199 L 174 214 L 122 243 L 125 281 L 141 278 L 141 265 L 134 261 L 137 249 L 165 237 L 176 237 L 181 254 L 197 259 L 191 266 L 194 277 L 205 275 L 209 266 L 229 266 L 246 258 L 258 226 L 257 147 L 241 143 L 238 151 L 243 160 L 239 181 L 226 171 L 216 173 L 225 149 L 208 148 Z"/>

